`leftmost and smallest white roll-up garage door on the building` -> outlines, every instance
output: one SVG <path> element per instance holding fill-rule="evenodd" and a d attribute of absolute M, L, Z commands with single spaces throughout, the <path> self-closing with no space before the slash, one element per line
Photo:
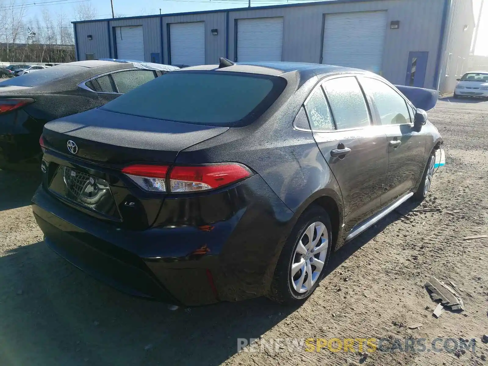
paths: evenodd
<path fill-rule="evenodd" d="M 142 25 L 115 27 L 117 58 L 144 61 L 144 36 Z"/>

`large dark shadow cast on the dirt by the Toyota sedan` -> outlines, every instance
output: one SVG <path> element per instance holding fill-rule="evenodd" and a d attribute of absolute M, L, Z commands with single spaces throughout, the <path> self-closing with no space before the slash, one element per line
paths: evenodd
<path fill-rule="evenodd" d="M 328 272 L 400 217 L 343 246 Z M 257 338 L 296 310 L 260 298 L 170 311 L 99 283 L 43 242 L 0 257 L 0 278 L 1 366 L 220 365 L 238 338 Z"/>

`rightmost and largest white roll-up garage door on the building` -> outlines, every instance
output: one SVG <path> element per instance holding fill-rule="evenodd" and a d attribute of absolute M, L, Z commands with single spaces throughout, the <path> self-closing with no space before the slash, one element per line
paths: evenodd
<path fill-rule="evenodd" d="M 326 14 L 322 63 L 379 73 L 386 35 L 386 11 Z"/>

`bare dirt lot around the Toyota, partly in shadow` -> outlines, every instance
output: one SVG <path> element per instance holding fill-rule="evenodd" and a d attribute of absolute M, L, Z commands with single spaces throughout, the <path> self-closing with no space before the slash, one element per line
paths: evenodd
<path fill-rule="evenodd" d="M 462 240 L 488 234 L 488 102 L 445 99 L 429 115 L 444 136 L 447 166 L 420 207 L 442 212 L 390 214 L 333 255 L 329 275 L 300 308 L 256 299 L 170 311 L 119 293 L 43 244 L 29 206 L 39 177 L 0 171 L 0 365 L 488 365 L 488 239 Z M 431 275 L 458 285 L 466 311 L 431 315 Z M 404 326 L 414 323 L 423 326 Z M 437 337 L 475 338 L 476 351 L 457 358 L 442 341 L 442 352 L 377 350 L 366 361 L 327 347 L 237 352 L 238 338 L 262 337 L 259 346 L 388 336 L 425 338 L 427 349 Z"/>

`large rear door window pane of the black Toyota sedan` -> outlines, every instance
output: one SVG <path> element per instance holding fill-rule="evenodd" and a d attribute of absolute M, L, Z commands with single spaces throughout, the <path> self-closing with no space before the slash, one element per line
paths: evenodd
<path fill-rule="evenodd" d="M 363 91 L 355 77 L 328 80 L 323 87 L 337 129 L 367 127 L 371 124 Z"/>

